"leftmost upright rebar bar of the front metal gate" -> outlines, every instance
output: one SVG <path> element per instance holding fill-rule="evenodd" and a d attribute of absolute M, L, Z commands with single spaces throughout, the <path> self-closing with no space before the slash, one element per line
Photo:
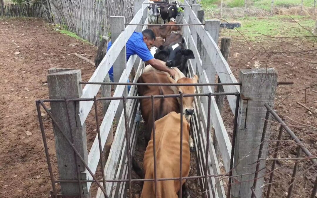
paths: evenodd
<path fill-rule="evenodd" d="M 48 168 L 49 168 L 49 177 L 51 179 L 54 196 L 55 196 L 55 198 L 57 198 L 57 191 L 56 191 L 56 187 L 55 187 L 55 182 L 56 181 L 54 181 L 52 164 L 51 164 L 51 160 L 49 159 L 49 148 L 48 148 L 47 142 L 46 142 L 46 136 L 45 136 L 44 125 L 43 125 L 43 120 L 42 120 L 41 108 L 40 108 L 39 101 L 36 101 L 36 110 L 37 110 L 37 116 L 39 118 L 40 129 L 41 129 L 41 133 L 42 133 L 42 139 L 43 139 L 43 144 L 44 144 L 46 161 L 47 161 L 47 165 L 48 165 Z"/>

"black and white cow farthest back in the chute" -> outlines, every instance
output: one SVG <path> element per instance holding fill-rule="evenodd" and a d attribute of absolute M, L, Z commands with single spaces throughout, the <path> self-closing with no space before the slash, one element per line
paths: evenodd
<path fill-rule="evenodd" d="M 175 21 L 176 17 L 180 16 L 181 12 L 178 10 L 179 8 L 181 10 L 184 10 L 184 7 L 180 7 L 176 1 L 173 3 L 156 1 L 154 3 L 160 4 L 160 15 L 162 20 L 164 21 L 164 24 L 166 20 L 167 22 L 170 22 L 171 20 Z"/>

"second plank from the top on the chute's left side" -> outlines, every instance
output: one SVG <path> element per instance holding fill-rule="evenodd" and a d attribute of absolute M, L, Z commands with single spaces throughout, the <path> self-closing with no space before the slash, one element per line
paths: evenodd
<path fill-rule="evenodd" d="M 131 72 L 131 69 L 133 67 L 133 63 L 134 63 L 136 57 L 137 57 L 137 55 L 133 55 L 129 58 L 129 60 L 127 62 L 127 67 L 123 71 L 119 82 L 126 82 L 126 80 L 128 79 L 129 73 Z M 117 86 L 117 89 L 114 91 L 113 97 L 122 96 L 124 88 L 125 88 L 124 85 Z M 105 146 L 106 139 L 109 135 L 110 128 L 112 127 L 113 118 L 114 118 L 114 115 L 117 111 L 119 103 L 120 103 L 120 100 L 112 100 L 110 102 L 110 105 L 107 109 L 106 115 L 101 122 L 100 136 L 101 136 L 101 148 L 102 149 Z M 96 136 L 94 139 L 94 143 L 93 143 L 93 145 L 89 151 L 89 154 L 88 154 L 88 167 L 91 169 L 93 174 L 96 172 L 96 168 L 98 166 L 99 159 L 100 159 L 99 143 L 98 143 L 98 137 Z M 89 172 L 87 172 L 87 180 L 90 180 L 90 179 L 92 179 L 92 176 L 90 175 Z M 88 184 L 91 184 L 91 183 L 88 183 Z M 87 186 L 88 186 L 88 184 L 87 184 Z M 89 190 L 89 188 L 90 188 L 90 185 L 88 187 L 88 190 Z"/>

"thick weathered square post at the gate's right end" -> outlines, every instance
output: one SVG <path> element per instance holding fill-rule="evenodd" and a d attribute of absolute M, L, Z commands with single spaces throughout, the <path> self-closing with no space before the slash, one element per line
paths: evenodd
<path fill-rule="evenodd" d="M 240 106 L 238 127 L 236 131 L 236 144 L 233 167 L 236 174 L 232 179 L 232 197 L 251 197 L 259 145 L 264 126 L 267 103 L 273 108 L 277 83 L 277 71 L 274 68 L 242 69 L 240 71 Z M 269 118 L 271 119 L 271 117 Z M 268 122 L 265 140 L 270 136 L 270 122 Z M 264 143 L 262 158 L 268 153 L 268 142 Z M 265 161 L 260 163 L 260 169 L 265 166 Z M 256 196 L 262 197 L 265 168 L 259 172 Z M 243 175 L 245 174 L 245 175 Z"/>

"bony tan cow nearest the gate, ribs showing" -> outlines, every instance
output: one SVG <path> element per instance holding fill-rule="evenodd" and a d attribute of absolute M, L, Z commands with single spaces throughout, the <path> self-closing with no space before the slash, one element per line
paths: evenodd
<path fill-rule="evenodd" d="M 155 150 L 157 178 L 179 177 L 180 163 L 180 113 L 170 112 L 155 122 Z M 190 171 L 190 150 L 188 144 L 190 126 L 183 115 L 183 158 L 182 177 L 187 177 Z M 145 179 L 154 178 L 153 137 L 149 141 L 144 154 L 143 166 Z M 182 180 L 182 185 L 186 180 Z M 179 180 L 158 181 L 157 194 L 159 198 L 177 198 Z M 141 198 L 155 197 L 154 182 L 144 182 Z"/>

